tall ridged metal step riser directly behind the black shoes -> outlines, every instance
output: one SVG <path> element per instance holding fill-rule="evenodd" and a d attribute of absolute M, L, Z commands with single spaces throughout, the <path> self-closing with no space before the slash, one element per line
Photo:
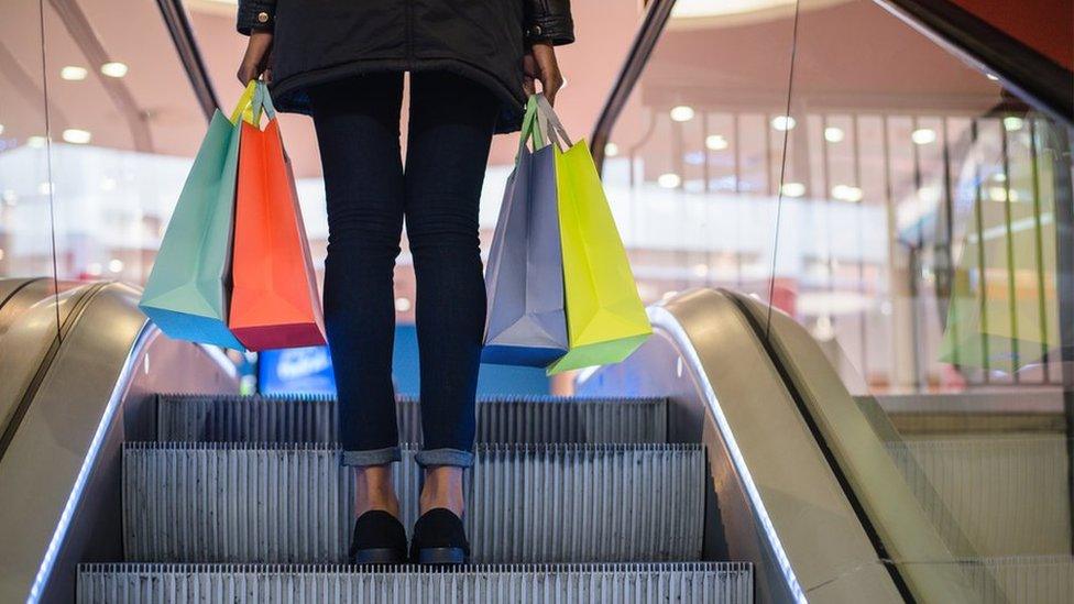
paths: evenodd
<path fill-rule="evenodd" d="M 123 452 L 132 562 L 342 562 L 353 480 L 322 444 L 134 443 Z M 417 516 L 414 450 L 395 472 Z M 700 444 L 482 444 L 467 473 L 473 562 L 694 560 Z"/>

